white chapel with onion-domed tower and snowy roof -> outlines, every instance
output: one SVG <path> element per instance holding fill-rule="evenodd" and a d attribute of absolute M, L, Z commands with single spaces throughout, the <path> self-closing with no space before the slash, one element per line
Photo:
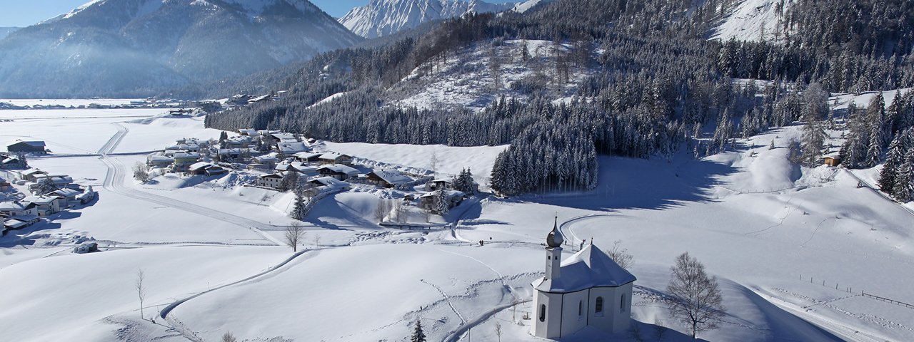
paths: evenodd
<path fill-rule="evenodd" d="M 593 244 L 562 261 L 563 240 L 558 224 L 553 226 L 546 238 L 546 276 L 532 284 L 533 335 L 566 337 L 585 326 L 608 333 L 627 330 L 634 275 Z"/>

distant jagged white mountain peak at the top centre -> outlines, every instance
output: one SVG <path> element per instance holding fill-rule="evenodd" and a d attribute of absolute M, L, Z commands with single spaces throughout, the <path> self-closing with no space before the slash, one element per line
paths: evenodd
<path fill-rule="evenodd" d="M 433 20 L 462 16 L 467 12 L 501 12 L 514 4 L 489 4 L 479 0 L 371 0 L 353 8 L 339 22 L 356 35 L 388 36 Z"/>

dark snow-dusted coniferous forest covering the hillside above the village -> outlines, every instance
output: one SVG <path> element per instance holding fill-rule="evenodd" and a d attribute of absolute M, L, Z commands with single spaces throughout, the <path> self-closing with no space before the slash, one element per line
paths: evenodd
<path fill-rule="evenodd" d="M 282 74 L 179 94 L 290 90 L 277 101 L 207 116 L 207 127 L 221 130 L 289 130 L 339 142 L 510 144 L 495 162 L 491 186 L 514 195 L 593 189 L 599 154 L 667 158 L 688 150 L 701 157 L 796 121 L 805 125 L 799 161 L 812 166 L 823 149 L 824 122 L 834 115 L 828 92 L 914 85 L 909 1 L 798 0 L 771 38 L 708 40 L 731 3 L 562 0 L 524 14 L 468 15 L 385 44 L 328 52 Z M 547 79 L 516 85 L 531 100 L 506 96 L 478 111 L 388 103 L 388 89 L 423 64 L 447 63 L 467 47 L 527 39 L 572 47 L 556 49 Z M 554 101 L 550 89 L 568 85 L 576 70 L 588 76 L 573 99 Z M 343 92 L 332 106 L 314 105 Z M 896 98 L 888 109 L 879 97 L 843 114 L 849 133 L 842 155 L 848 167 L 886 160 L 880 185 L 903 200 L 914 192 L 914 98 Z"/>

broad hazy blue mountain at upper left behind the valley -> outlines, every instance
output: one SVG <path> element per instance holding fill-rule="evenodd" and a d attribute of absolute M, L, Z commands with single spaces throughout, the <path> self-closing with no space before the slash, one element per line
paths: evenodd
<path fill-rule="evenodd" d="M 0 41 L 0 94 L 151 95 L 360 39 L 307 0 L 97 0 Z"/>

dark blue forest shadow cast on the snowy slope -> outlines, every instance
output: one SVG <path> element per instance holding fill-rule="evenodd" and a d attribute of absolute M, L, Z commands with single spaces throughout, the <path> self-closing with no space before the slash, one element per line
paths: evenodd
<path fill-rule="evenodd" d="M 694 160 L 682 154 L 672 161 L 604 156 L 599 162 L 596 190 L 517 199 L 593 211 L 661 210 L 682 202 L 715 202 L 713 189 L 718 180 L 737 171 L 724 163 Z"/>

